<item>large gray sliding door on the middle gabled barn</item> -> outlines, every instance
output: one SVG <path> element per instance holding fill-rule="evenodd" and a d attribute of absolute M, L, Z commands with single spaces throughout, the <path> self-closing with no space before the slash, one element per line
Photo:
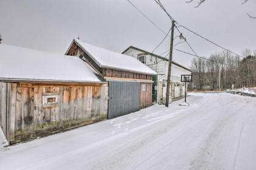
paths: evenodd
<path fill-rule="evenodd" d="M 139 82 L 109 81 L 108 90 L 108 118 L 140 110 Z"/>

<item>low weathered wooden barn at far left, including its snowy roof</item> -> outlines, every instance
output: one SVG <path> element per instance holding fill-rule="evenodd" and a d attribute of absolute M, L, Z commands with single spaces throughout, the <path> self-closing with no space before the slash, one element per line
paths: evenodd
<path fill-rule="evenodd" d="M 107 118 L 107 82 L 73 56 L 0 44 L 0 126 L 9 144 Z"/>

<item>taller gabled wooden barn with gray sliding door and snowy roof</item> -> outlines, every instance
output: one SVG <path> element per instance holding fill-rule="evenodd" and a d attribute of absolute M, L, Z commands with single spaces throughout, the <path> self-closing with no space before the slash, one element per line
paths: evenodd
<path fill-rule="evenodd" d="M 66 55 L 77 56 L 108 81 L 108 118 L 152 104 L 154 70 L 135 58 L 73 39 Z"/>

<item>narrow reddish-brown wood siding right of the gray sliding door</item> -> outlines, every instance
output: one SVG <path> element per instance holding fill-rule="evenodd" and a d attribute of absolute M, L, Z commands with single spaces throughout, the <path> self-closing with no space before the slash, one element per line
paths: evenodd
<path fill-rule="evenodd" d="M 144 87 L 146 86 L 146 89 Z M 152 105 L 152 83 L 140 83 L 140 107 Z"/>

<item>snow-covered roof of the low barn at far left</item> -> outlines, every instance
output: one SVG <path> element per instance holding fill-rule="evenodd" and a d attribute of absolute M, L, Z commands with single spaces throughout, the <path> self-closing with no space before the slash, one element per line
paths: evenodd
<path fill-rule="evenodd" d="M 0 80 L 101 83 L 88 67 L 74 56 L 0 44 Z"/>

